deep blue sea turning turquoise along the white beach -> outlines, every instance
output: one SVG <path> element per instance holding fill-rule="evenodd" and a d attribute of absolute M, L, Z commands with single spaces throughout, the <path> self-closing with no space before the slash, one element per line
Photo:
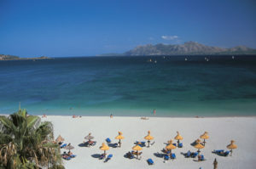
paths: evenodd
<path fill-rule="evenodd" d="M 19 102 L 33 115 L 256 115 L 256 56 L 0 61 L 0 114 Z"/>

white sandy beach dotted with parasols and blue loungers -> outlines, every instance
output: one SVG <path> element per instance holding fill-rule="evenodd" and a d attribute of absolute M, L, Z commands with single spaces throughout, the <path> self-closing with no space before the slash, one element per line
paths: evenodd
<path fill-rule="evenodd" d="M 52 121 L 54 124 L 55 138 L 61 134 L 65 138 L 64 143 L 71 143 L 75 149 L 73 154 L 76 158 L 64 161 L 67 169 L 79 168 L 189 168 L 198 169 L 202 167 L 213 168 L 213 161 L 217 158 L 218 168 L 255 168 L 256 166 L 256 117 L 212 117 L 212 118 L 171 118 L 171 117 L 149 117 L 149 120 L 141 120 L 140 117 L 116 117 L 113 119 L 107 116 L 83 116 L 72 118 L 71 116 L 47 116 L 42 121 Z M 154 137 L 154 144 L 150 147 L 143 147 L 141 160 L 126 159 L 125 153 L 131 151 L 134 142 L 146 141 L 144 137 L 151 131 Z M 118 132 L 123 132 L 125 139 L 122 140 L 121 148 L 110 148 L 107 154 L 113 154 L 113 158 L 104 163 L 91 155 L 102 154 L 99 147 L 106 143 L 106 138 L 114 138 Z M 166 142 L 177 135 L 177 131 L 183 136 L 183 148 L 172 150 L 177 159 L 164 163 L 162 158 L 154 155 L 166 147 Z M 196 151 L 190 144 L 199 138 L 203 132 L 207 131 L 210 138 L 207 140 L 205 149 L 201 149 L 201 154 L 207 161 L 193 161 L 192 158 L 185 158 L 181 153 L 188 150 Z M 84 137 L 91 132 L 97 142 L 93 147 L 80 147 Z M 237 149 L 233 150 L 232 156 L 218 156 L 212 154 L 213 149 L 225 149 L 230 140 L 236 141 Z M 175 140 L 176 142 L 176 140 Z M 67 149 L 61 149 L 61 152 Z M 147 159 L 154 161 L 153 166 L 148 166 Z"/>

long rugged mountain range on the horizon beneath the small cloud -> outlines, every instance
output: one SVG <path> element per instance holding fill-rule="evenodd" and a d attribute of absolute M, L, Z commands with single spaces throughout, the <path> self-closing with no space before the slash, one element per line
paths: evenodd
<path fill-rule="evenodd" d="M 198 42 L 184 42 L 183 44 L 148 44 L 137 46 L 124 54 L 102 54 L 101 56 L 148 56 L 148 55 L 200 55 L 200 54 L 256 54 L 256 49 L 245 46 L 234 48 L 218 48 L 203 45 Z"/>

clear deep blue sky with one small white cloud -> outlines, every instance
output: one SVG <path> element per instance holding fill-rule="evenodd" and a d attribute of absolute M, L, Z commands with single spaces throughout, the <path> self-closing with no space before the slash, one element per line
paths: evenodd
<path fill-rule="evenodd" d="M 0 0 L 0 54 L 90 56 L 187 41 L 256 48 L 256 1 Z"/>

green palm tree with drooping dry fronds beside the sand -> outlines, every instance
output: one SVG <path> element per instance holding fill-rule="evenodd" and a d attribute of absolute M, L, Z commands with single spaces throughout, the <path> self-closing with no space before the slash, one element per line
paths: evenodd
<path fill-rule="evenodd" d="M 41 122 L 26 110 L 0 116 L 0 169 L 1 168 L 57 168 L 61 152 L 54 142 L 53 126 Z"/>

